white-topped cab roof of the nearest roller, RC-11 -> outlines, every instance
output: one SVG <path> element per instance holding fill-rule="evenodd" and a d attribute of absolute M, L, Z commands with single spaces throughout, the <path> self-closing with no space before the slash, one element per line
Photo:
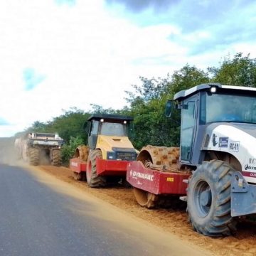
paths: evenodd
<path fill-rule="evenodd" d="M 209 90 L 210 87 L 216 87 L 216 90 L 218 92 L 218 88 L 224 89 L 224 90 L 237 90 L 237 91 L 249 91 L 249 92 L 256 92 L 255 87 L 246 87 L 246 86 L 237 86 L 237 85 L 221 85 L 220 83 L 208 83 L 208 84 L 201 84 L 196 85 L 188 90 L 181 90 L 180 92 L 177 92 L 174 95 L 174 100 L 183 100 L 186 97 L 189 97 L 196 92 L 199 92 L 201 90 Z"/>

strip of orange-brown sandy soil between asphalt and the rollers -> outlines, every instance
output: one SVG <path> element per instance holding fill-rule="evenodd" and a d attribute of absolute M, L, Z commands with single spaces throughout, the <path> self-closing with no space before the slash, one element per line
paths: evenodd
<path fill-rule="evenodd" d="M 202 247 L 202 249 L 208 250 L 214 255 L 256 255 L 256 223 L 240 220 L 236 235 L 228 238 L 208 238 L 199 235 L 191 229 L 184 207 L 149 210 L 137 204 L 132 188 L 123 188 L 122 186 L 101 189 L 89 188 L 86 182 L 75 181 L 73 173 L 68 168 L 40 166 L 38 169 L 80 188 L 84 193 L 96 196 L 103 201 L 107 201 L 107 203 L 125 210 L 127 213 L 142 218 L 164 231 L 177 235 L 184 242 L 187 241 Z"/>

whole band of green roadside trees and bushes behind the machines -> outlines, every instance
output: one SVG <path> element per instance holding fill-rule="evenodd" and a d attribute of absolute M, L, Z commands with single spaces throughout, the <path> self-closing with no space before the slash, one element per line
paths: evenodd
<path fill-rule="evenodd" d="M 86 120 L 90 114 L 124 114 L 134 117 L 134 147 L 151 144 L 154 146 L 178 146 L 179 118 L 176 114 L 172 119 L 164 116 L 166 101 L 174 97 L 180 90 L 206 82 L 220 82 L 224 85 L 243 85 L 256 87 L 256 59 L 250 54 L 237 53 L 220 61 L 218 67 L 209 67 L 207 71 L 196 66 L 185 65 L 180 70 L 166 75 L 166 78 L 140 78 L 139 85 L 132 85 L 127 91 L 127 106 L 121 110 L 104 109 L 100 105 L 92 105 L 90 112 L 76 107 L 63 110 L 63 114 L 48 122 L 36 121 L 25 132 L 58 132 L 65 139 L 63 161 L 73 156 L 78 144 L 86 144 Z M 18 134 L 16 134 L 18 135 Z"/>

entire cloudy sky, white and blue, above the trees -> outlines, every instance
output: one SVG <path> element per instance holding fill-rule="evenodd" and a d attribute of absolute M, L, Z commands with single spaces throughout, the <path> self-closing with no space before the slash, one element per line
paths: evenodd
<path fill-rule="evenodd" d="M 256 58 L 256 2 L 0 2 L 0 137 L 90 104 L 121 108 L 139 76 Z"/>

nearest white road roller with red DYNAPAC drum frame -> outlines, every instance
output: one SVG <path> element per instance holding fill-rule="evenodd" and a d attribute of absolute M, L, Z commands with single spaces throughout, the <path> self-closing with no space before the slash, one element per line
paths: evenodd
<path fill-rule="evenodd" d="M 238 216 L 256 213 L 256 88 L 203 84 L 166 104 L 181 110 L 181 143 L 146 146 L 127 166 L 141 206 L 187 202 L 194 230 L 230 235 Z"/>

